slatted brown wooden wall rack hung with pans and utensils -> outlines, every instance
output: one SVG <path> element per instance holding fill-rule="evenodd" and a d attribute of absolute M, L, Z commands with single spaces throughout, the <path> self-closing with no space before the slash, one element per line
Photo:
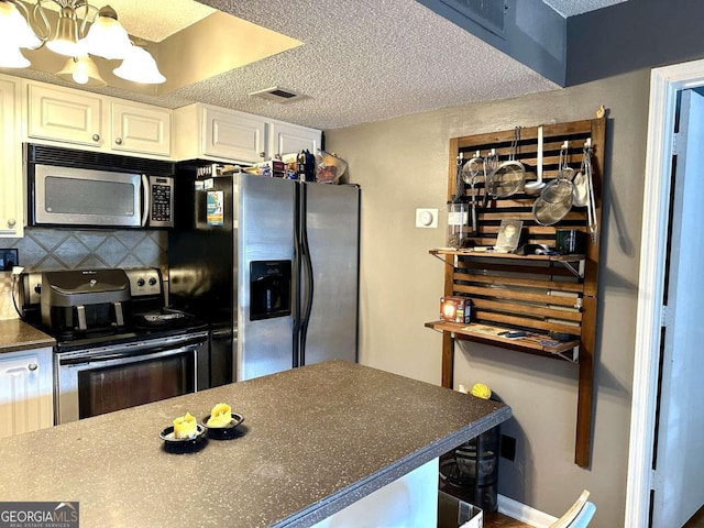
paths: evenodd
<path fill-rule="evenodd" d="M 454 343 L 458 339 L 575 363 L 579 365 L 579 397 L 574 461 L 582 468 L 590 465 L 591 457 L 605 128 L 606 120 L 601 117 L 543 125 L 542 131 L 546 183 L 558 176 L 560 147 L 565 141 L 569 146 L 568 164 L 576 173 L 584 143 L 591 139 L 596 223 L 600 228 L 595 241 L 587 234 L 585 207 L 573 207 L 560 222 L 541 226 L 532 216 L 536 196 L 527 195 L 522 189 L 508 198 L 490 197 L 487 206 L 479 208 L 477 232 L 470 233 L 471 229 L 466 228 L 470 245 L 475 246 L 492 246 L 504 219 L 524 221 L 521 244 L 554 246 L 557 230 L 576 229 L 584 233 L 584 254 L 524 256 L 476 252 L 472 248 L 430 251 L 447 264 L 444 295 L 472 299 L 472 323 L 426 323 L 443 334 L 442 385 L 453 386 Z M 448 199 L 455 194 L 458 156 L 462 154 L 468 161 L 476 151 L 485 156 L 495 148 L 499 162 L 508 160 L 514 133 L 514 130 L 506 130 L 450 140 Z M 521 128 L 516 160 L 526 166 L 526 183 L 537 177 L 537 152 L 538 128 Z M 477 198 L 483 197 L 484 186 L 484 178 L 477 178 L 474 188 Z M 466 186 L 464 199 L 468 201 L 471 193 Z M 509 330 L 522 330 L 527 336 L 512 339 L 503 334 Z M 571 338 L 569 341 L 556 340 L 551 332 Z"/>

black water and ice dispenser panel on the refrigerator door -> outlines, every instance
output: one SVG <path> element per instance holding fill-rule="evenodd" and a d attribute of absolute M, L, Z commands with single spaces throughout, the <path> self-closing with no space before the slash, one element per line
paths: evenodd
<path fill-rule="evenodd" d="M 250 263 L 250 320 L 292 314 L 292 261 Z"/>

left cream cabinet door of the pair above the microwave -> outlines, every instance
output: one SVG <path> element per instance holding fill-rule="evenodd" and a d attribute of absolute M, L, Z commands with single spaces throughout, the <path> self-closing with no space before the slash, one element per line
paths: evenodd
<path fill-rule="evenodd" d="M 102 100 L 86 91 L 29 85 L 28 135 L 100 146 Z"/>

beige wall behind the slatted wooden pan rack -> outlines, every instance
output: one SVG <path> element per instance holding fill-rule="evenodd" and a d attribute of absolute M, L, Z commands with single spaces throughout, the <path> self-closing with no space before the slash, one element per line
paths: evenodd
<path fill-rule="evenodd" d="M 439 384 L 441 336 L 424 322 L 438 317 L 443 263 L 428 250 L 444 245 L 444 218 L 414 224 L 417 207 L 444 208 L 448 140 L 608 109 L 591 469 L 573 463 L 575 365 L 470 343 L 454 371 L 455 384 L 487 383 L 514 410 L 502 432 L 517 439 L 516 460 L 502 459 L 499 493 L 560 515 L 588 488 L 596 528 L 623 526 L 625 509 L 648 96 L 644 70 L 326 132 L 362 187 L 360 361 Z"/>

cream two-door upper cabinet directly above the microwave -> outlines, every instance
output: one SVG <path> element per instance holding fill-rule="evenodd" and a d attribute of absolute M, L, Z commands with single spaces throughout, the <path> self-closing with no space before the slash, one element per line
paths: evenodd
<path fill-rule="evenodd" d="M 170 157 L 173 111 L 61 86 L 26 84 L 26 136 Z"/>

